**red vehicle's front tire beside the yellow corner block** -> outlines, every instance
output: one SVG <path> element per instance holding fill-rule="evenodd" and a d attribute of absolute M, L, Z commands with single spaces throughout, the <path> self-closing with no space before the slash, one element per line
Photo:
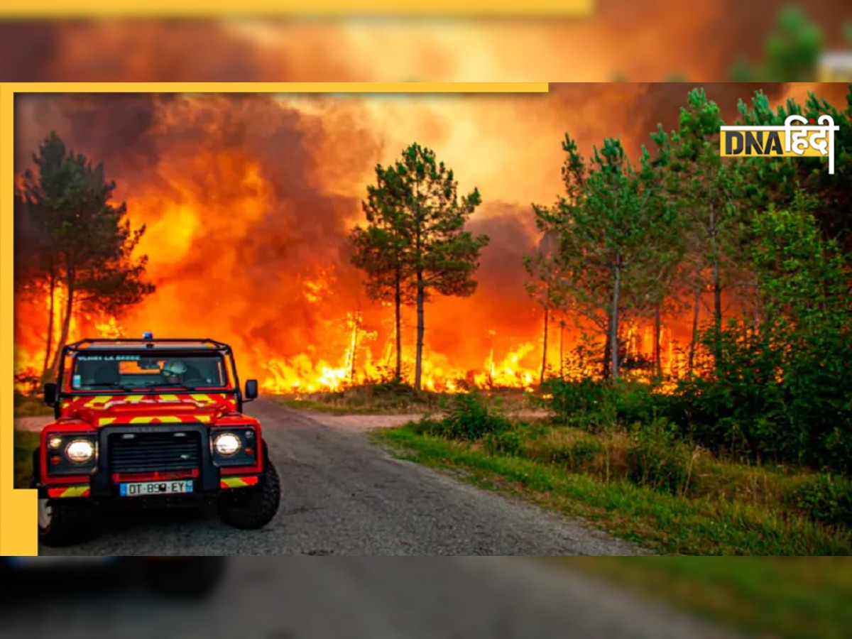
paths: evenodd
<path fill-rule="evenodd" d="M 39 449 L 32 453 L 30 487 L 37 488 L 40 468 Z M 51 499 L 47 490 L 38 488 L 38 541 L 51 548 L 64 548 L 95 538 L 95 512 L 87 498 Z M 49 522 L 43 521 L 43 508 L 49 509 Z"/>

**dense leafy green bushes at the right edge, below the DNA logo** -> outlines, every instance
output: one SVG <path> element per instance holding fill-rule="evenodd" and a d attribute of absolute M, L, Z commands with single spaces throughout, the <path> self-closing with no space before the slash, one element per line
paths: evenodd
<path fill-rule="evenodd" d="M 852 471 L 848 276 L 820 239 L 811 204 L 770 208 L 753 222 L 751 261 L 762 320 L 734 319 L 705 377 L 681 385 L 681 424 L 734 455 Z M 705 341 L 710 336 L 705 334 Z"/>

